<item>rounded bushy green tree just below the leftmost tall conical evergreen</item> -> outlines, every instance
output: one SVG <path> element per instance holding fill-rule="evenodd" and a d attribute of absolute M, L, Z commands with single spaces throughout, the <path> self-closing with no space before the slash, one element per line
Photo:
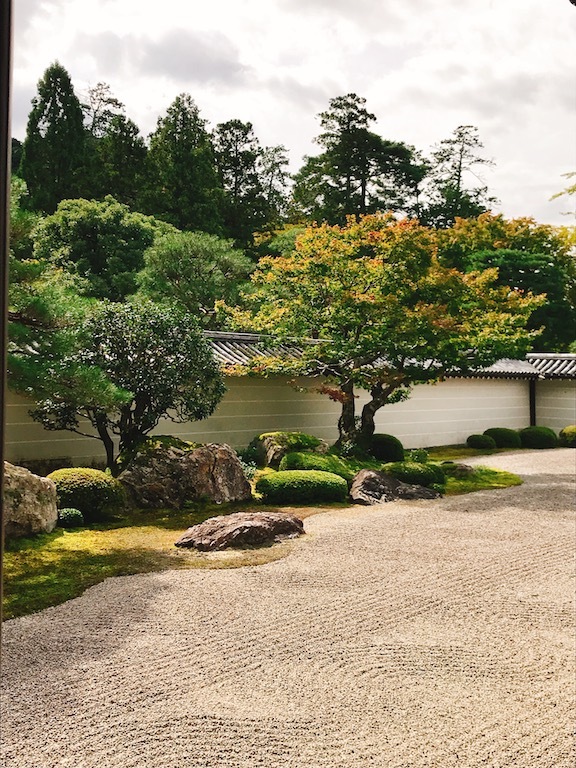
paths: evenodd
<path fill-rule="evenodd" d="M 154 238 L 170 228 L 104 200 L 64 200 L 34 233 L 34 255 L 84 279 L 83 293 L 121 301 L 136 291 L 136 273 Z"/>

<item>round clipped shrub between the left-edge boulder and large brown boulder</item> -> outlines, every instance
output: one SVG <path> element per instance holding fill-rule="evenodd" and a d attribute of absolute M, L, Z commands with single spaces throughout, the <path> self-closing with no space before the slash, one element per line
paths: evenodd
<path fill-rule="evenodd" d="M 110 507 L 124 503 L 121 483 L 99 469 L 57 469 L 48 477 L 56 484 L 58 506 L 79 509 L 87 523 L 97 522 Z"/>

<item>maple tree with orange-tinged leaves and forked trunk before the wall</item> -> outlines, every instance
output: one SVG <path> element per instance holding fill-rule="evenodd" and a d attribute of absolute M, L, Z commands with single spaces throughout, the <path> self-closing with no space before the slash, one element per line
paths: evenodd
<path fill-rule="evenodd" d="M 432 230 L 388 214 L 308 227 L 292 253 L 260 260 L 244 308 L 231 310 L 237 329 L 299 354 L 250 367 L 321 377 L 318 391 L 341 403 L 339 440 L 362 445 L 378 409 L 415 384 L 523 356 L 541 297 L 498 286 L 495 269 L 444 267 L 436 250 Z M 359 414 L 357 389 L 370 395 Z"/>

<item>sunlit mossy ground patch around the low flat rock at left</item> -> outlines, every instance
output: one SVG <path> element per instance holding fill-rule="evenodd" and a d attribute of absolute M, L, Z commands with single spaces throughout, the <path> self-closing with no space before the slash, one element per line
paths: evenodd
<path fill-rule="evenodd" d="M 204 553 L 174 546 L 179 534 L 216 514 L 249 505 L 227 505 L 174 512 L 135 511 L 106 525 L 63 530 L 6 543 L 5 619 L 24 616 L 78 597 L 109 576 L 169 568 L 238 568 L 261 565 L 286 555 L 290 542 L 253 550 Z"/>

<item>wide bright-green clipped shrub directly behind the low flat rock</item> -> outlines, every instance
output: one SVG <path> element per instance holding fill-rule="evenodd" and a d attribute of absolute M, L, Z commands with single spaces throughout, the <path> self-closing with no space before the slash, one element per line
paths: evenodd
<path fill-rule="evenodd" d="M 263 475 L 256 490 L 267 504 L 310 504 L 344 501 L 348 484 L 332 472 L 294 469 Z"/>

